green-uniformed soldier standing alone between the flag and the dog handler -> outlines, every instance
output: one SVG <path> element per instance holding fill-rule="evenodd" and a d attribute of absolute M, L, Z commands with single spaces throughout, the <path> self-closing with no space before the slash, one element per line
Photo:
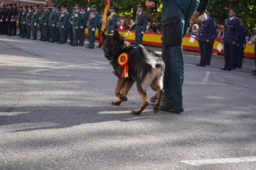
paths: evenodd
<path fill-rule="evenodd" d="M 139 20 L 140 15 L 145 14 L 145 12 L 143 12 L 142 4 L 137 5 L 137 10 L 138 10 L 138 13 L 136 14 L 134 22 L 137 22 Z M 139 44 L 142 44 L 142 38 L 143 38 L 143 34 L 146 31 L 147 22 L 148 22 L 148 18 L 146 15 L 142 20 L 140 20 L 140 22 L 134 28 L 136 46 L 138 46 Z"/>

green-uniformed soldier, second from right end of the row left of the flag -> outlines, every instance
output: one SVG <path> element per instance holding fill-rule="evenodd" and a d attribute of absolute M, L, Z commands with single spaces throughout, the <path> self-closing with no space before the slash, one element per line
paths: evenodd
<path fill-rule="evenodd" d="M 87 12 L 85 12 L 85 7 L 81 7 L 81 25 L 79 28 L 79 46 L 83 46 L 85 42 L 85 27 L 87 23 Z"/>

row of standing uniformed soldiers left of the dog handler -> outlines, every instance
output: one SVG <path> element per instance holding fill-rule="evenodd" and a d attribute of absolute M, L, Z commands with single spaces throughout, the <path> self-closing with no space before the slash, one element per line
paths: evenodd
<path fill-rule="evenodd" d="M 1 5 L 0 11 L 0 33 L 7 34 L 9 36 L 16 35 L 16 25 L 19 21 L 19 28 L 21 38 L 37 39 L 37 26 L 40 26 L 41 41 L 58 42 L 59 44 L 67 43 L 69 37 L 70 46 L 83 46 L 85 40 L 85 28 L 88 23 L 89 44 L 87 48 L 93 49 L 95 44 L 95 30 L 101 30 L 103 22 L 104 10 L 101 10 L 101 15 L 96 11 L 96 5 L 92 6 L 92 12 L 88 16 L 86 7 L 80 7 L 80 4 L 75 4 L 75 7 L 69 9 L 69 7 L 62 6 L 57 7 L 53 4 L 50 8 L 48 4 L 43 6 L 43 12 L 40 16 L 39 5 L 19 7 L 19 12 L 16 4 L 9 4 L 6 6 Z M 106 19 L 106 31 L 107 33 L 114 33 L 117 24 L 117 14 L 115 7 L 109 7 L 109 16 Z M 69 11 L 69 10 L 72 10 Z M 139 4 L 137 6 L 138 13 L 135 17 L 135 22 L 139 20 L 140 15 L 143 15 L 143 6 Z M 87 21 L 88 20 L 88 21 Z M 147 26 L 147 16 L 141 20 L 137 26 L 135 26 L 135 42 L 136 44 L 142 44 L 142 37 L 145 33 Z M 14 33 L 12 34 L 12 30 Z M 99 44 L 98 47 L 101 47 Z"/>

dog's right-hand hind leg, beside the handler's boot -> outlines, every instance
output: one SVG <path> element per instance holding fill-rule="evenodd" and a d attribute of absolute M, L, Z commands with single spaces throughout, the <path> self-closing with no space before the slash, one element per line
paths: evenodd
<path fill-rule="evenodd" d="M 154 105 L 154 112 L 157 113 L 159 110 L 159 105 L 163 98 L 164 90 L 163 90 L 163 76 L 157 76 L 156 79 L 151 84 L 151 87 L 154 91 L 157 92 L 156 102 Z"/>

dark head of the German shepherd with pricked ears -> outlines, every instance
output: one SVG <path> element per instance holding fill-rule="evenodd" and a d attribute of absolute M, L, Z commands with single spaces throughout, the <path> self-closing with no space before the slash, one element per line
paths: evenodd
<path fill-rule="evenodd" d="M 108 60 L 113 60 L 118 57 L 122 48 L 124 47 L 124 38 L 116 30 L 114 34 L 106 34 L 101 30 L 103 37 L 103 50 L 105 52 L 105 57 Z"/>

